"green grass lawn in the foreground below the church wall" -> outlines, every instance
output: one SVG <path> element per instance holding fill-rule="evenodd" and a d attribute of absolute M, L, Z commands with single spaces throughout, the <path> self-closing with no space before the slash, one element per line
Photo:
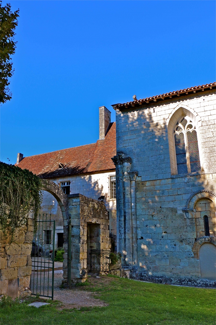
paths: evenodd
<path fill-rule="evenodd" d="M 97 282 L 96 282 L 97 281 Z M 0 306 L 0 324 L 210 324 L 215 325 L 215 290 L 176 287 L 116 277 L 90 278 L 80 290 L 94 292 L 109 305 L 58 309 L 57 302 L 40 308 Z M 30 298 L 32 299 L 32 298 Z M 37 300 L 37 299 L 34 299 Z"/>

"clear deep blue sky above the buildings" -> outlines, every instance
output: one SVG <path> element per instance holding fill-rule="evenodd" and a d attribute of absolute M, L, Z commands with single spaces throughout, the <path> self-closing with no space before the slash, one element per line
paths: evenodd
<path fill-rule="evenodd" d="M 3 5 L 5 5 L 3 1 Z M 215 78 L 215 1 L 10 1 L 20 9 L 1 161 L 98 139 L 98 107 Z"/>

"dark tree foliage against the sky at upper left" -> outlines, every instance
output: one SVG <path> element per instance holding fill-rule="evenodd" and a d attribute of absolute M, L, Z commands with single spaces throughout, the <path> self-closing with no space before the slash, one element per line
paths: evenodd
<path fill-rule="evenodd" d="M 15 29 L 18 25 L 19 10 L 12 12 L 11 5 L 2 6 L 0 1 L 0 103 L 10 100 L 9 78 L 14 73 L 11 55 L 15 53 Z"/>

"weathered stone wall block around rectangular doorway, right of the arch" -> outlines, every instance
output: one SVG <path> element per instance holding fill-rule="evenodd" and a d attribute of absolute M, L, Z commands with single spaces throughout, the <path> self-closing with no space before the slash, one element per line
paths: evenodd
<path fill-rule="evenodd" d="M 71 217 L 71 280 L 83 282 L 87 278 L 87 225 L 98 226 L 97 249 L 110 249 L 109 218 L 104 202 L 93 200 L 81 194 L 68 195 L 68 211 Z M 63 282 L 67 282 L 67 244 L 64 244 Z"/>

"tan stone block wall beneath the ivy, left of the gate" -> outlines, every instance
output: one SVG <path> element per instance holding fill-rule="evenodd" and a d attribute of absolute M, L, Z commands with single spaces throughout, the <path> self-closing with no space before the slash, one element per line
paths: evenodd
<path fill-rule="evenodd" d="M 12 244 L 5 240 L 0 230 L 0 295 L 13 299 L 30 295 L 31 247 L 34 231 L 33 216 L 15 234 Z"/>

